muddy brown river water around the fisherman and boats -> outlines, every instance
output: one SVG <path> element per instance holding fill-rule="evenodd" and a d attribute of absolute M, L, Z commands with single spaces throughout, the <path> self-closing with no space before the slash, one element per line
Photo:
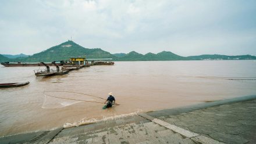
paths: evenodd
<path fill-rule="evenodd" d="M 255 60 L 116 62 L 54 77 L 35 77 L 35 69 L 40 67 L 0 66 L 1 83 L 30 81 L 24 87 L 0 89 L 0 136 L 256 94 Z M 102 110 L 102 103 L 52 98 L 44 91 L 101 98 L 112 92 L 120 105 Z M 104 102 L 69 92 L 47 94 Z"/>

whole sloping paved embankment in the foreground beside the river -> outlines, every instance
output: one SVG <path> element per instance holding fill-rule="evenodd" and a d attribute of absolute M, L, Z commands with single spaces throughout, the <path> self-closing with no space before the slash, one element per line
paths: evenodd
<path fill-rule="evenodd" d="M 141 113 L 0 143 L 255 143 L 256 96 Z"/>

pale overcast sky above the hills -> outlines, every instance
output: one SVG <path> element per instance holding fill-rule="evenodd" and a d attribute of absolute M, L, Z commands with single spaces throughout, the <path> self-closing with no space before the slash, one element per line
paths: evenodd
<path fill-rule="evenodd" d="M 256 1 L 0 1 L 0 53 L 72 39 L 111 53 L 256 55 Z"/>

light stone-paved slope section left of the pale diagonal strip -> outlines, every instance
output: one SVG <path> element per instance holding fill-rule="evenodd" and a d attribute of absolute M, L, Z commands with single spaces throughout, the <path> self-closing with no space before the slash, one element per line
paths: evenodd
<path fill-rule="evenodd" d="M 76 129 L 76 132 L 80 133 L 70 132 L 72 135 L 69 135 L 65 132 L 50 143 L 193 143 L 154 122 L 130 123 L 86 132 Z"/>

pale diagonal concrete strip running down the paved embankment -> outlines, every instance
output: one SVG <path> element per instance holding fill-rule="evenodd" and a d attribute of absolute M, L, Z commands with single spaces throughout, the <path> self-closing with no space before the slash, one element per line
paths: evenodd
<path fill-rule="evenodd" d="M 222 142 L 216 141 L 215 139 L 208 138 L 206 136 L 202 136 L 199 134 L 196 134 L 194 132 L 188 131 L 187 129 L 177 127 L 177 125 L 169 124 L 166 121 L 159 120 L 158 118 L 148 118 L 151 116 L 148 116 L 147 114 L 141 114 L 141 117 L 144 117 L 154 123 L 157 123 L 159 125 L 162 125 L 163 127 L 166 127 L 172 131 L 175 131 L 179 133 L 180 135 L 186 136 L 187 138 L 191 138 L 193 141 L 202 143 L 202 144 L 210 144 L 210 143 L 216 143 L 216 144 L 224 144 Z"/>

